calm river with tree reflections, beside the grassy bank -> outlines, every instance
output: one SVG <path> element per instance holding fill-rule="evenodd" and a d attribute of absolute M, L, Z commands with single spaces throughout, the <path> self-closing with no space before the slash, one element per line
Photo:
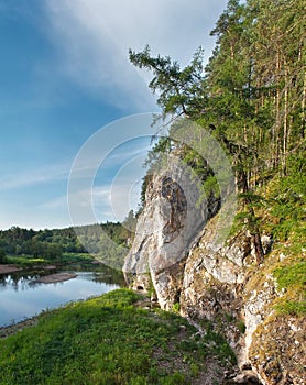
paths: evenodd
<path fill-rule="evenodd" d="M 37 283 L 40 275 L 18 272 L 0 275 L 0 327 L 39 315 L 69 301 L 99 296 L 123 285 L 120 273 L 111 274 L 101 265 L 90 270 L 62 268 L 76 277 L 51 284 Z"/>

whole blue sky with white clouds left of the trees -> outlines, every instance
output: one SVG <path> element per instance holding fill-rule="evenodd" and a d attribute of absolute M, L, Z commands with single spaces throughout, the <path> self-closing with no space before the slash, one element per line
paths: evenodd
<path fill-rule="evenodd" d="M 208 61 L 226 3 L 0 0 L 0 229 L 117 221 L 136 209 L 159 110 L 129 48 L 149 44 L 185 66 L 203 46 Z"/>

